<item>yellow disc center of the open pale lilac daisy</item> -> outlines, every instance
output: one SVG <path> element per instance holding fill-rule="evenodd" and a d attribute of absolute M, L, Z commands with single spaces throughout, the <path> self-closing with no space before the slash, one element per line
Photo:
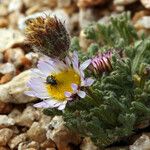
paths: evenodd
<path fill-rule="evenodd" d="M 73 70 L 64 70 L 58 74 L 51 74 L 56 84 L 46 84 L 46 89 L 51 97 L 57 100 L 65 100 L 65 92 L 73 92 L 71 84 L 80 84 L 80 76 Z"/>

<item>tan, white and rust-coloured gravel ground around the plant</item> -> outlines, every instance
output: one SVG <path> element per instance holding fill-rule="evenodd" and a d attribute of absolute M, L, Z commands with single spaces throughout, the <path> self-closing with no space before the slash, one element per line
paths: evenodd
<path fill-rule="evenodd" d="M 49 117 L 34 108 L 37 99 L 27 97 L 26 82 L 39 55 L 25 42 L 25 22 L 36 16 L 56 15 L 70 34 L 80 37 L 94 21 L 106 22 L 110 15 L 130 11 L 140 34 L 150 33 L 150 0 L 0 0 L 0 150 L 97 150 L 87 137 L 82 139 L 64 127 L 59 116 Z M 140 133 L 130 146 L 109 150 L 149 150 L 150 134 Z"/>

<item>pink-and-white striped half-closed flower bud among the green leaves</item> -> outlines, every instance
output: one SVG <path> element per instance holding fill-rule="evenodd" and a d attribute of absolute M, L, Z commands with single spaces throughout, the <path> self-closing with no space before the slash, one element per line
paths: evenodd
<path fill-rule="evenodd" d="M 98 54 L 91 61 L 91 69 L 96 73 L 109 72 L 112 70 L 111 65 L 112 52 L 107 51 L 103 54 Z"/>

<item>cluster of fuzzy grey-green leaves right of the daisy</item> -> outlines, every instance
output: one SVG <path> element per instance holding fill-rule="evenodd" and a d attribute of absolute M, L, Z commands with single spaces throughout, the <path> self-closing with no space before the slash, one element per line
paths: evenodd
<path fill-rule="evenodd" d="M 96 82 L 89 95 L 69 104 L 63 113 L 50 109 L 45 113 L 63 115 L 70 130 L 106 147 L 150 119 L 150 38 L 137 35 L 128 14 L 111 18 L 107 25 L 90 25 L 85 34 L 93 43 L 87 54 L 79 52 L 81 60 L 111 49 L 112 71 L 93 76 Z M 80 49 L 77 38 L 72 39 L 71 48 Z"/>

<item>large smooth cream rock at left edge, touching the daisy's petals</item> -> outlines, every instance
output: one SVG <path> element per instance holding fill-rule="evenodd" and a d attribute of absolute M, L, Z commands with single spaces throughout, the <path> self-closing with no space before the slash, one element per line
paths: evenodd
<path fill-rule="evenodd" d="M 37 98 L 24 94 L 28 90 L 27 82 L 31 77 L 31 70 L 26 70 L 15 76 L 10 82 L 0 85 L 0 101 L 10 103 L 27 103 Z"/>

